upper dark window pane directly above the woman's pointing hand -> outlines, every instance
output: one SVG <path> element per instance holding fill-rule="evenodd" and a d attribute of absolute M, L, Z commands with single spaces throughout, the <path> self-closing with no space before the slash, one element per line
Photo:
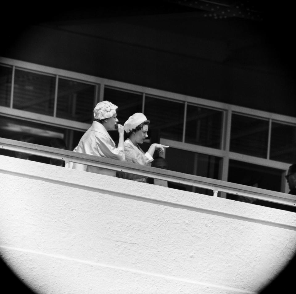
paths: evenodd
<path fill-rule="evenodd" d="M 146 96 L 144 114 L 150 120 L 154 142 L 159 138 L 182 141 L 184 103 Z"/>

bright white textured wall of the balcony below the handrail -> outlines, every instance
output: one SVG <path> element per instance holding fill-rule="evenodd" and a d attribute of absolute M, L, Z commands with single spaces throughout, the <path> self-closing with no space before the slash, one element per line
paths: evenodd
<path fill-rule="evenodd" d="M 0 156 L 0 253 L 37 293 L 255 293 L 296 214 Z"/>

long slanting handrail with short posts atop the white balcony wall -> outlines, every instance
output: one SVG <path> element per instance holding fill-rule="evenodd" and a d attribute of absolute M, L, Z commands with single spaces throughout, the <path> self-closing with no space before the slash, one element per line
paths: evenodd
<path fill-rule="evenodd" d="M 148 167 L 135 163 L 123 162 L 115 159 L 98 157 L 94 155 L 88 155 L 69 150 L 5 138 L 0 138 L 0 148 L 11 151 L 29 153 L 32 155 L 61 159 L 65 161 L 65 167 L 69 167 L 70 162 L 81 163 L 115 171 L 137 174 L 144 177 L 162 179 L 189 186 L 205 188 L 208 190 L 212 190 L 214 197 L 218 196 L 218 192 L 226 192 L 229 194 L 296 206 L 296 199 L 294 195 L 236 183 L 230 183 L 197 175 L 184 174 L 181 172 L 165 170 L 157 167 Z"/>

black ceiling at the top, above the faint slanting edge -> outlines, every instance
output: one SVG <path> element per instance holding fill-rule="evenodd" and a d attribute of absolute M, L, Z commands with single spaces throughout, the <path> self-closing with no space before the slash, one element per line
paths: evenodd
<path fill-rule="evenodd" d="M 290 31 L 292 10 L 265 1 L 158 0 L 98 2 L 61 7 L 50 2 L 38 8 L 20 4 L 3 38 L 13 42 L 32 25 L 47 26 L 97 38 L 113 38 L 137 46 L 156 47 L 255 70 L 277 71 L 294 64 Z M 15 23 L 14 23 L 15 24 Z M 3 26 L 2 26 L 3 27 Z M 146 34 L 162 35 L 163 42 Z M 175 44 L 167 42 L 174 40 Z M 183 43 L 177 49 L 176 43 Z M 166 43 L 166 44 L 165 44 Z"/>

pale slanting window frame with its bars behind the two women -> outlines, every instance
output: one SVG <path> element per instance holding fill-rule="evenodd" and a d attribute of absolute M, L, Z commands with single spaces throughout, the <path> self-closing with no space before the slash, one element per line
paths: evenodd
<path fill-rule="evenodd" d="M 272 122 L 296 126 L 295 117 L 281 115 L 277 113 L 270 113 L 270 112 L 247 108 L 247 107 L 241 107 L 241 106 L 227 104 L 227 103 L 218 102 L 214 100 L 208 100 L 201 97 L 188 96 L 188 95 L 178 94 L 170 91 L 144 87 L 140 85 L 125 83 L 125 82 L 111 80 L 111 79 L 104 79 L 97 76 L 86 75 L 83 73 L 63 70 L 63 69 L 49 67 L 49 66 L 43 66 L 43 65 L 39 65 L 31 62 L 25 62 L 21 60 L 6 58 L 6 57 L 0 57 L 0 65 L 6 66 L 6 67 L 12 67 L 13 69 L 10 107 L 0 106 L 0 115 L 2 116 L 12 117 L 12 118 L 21 118 L 21 119 L 32 121 L 32 122 L 45 123 L 50 126 L 64 127 L 74 131 L 86 131 L 90 126 L 90 124 L 88 123 L 81 123 L 73 120 L 57 118 L 55 116 L 41 115 L 41 114 L 29 112 L 29 111 L 17 110 L 12 108 L 15 68 L 20 70 L 28 70 L 28 71 L 32 71 L 32 72 L 44 74 L 44 75 L 55 75 L 56 85 L 58 84 L 59 77 L 63 79 L 75 80 L 77 82 L 82 82 L 82 83 L 95 84 L 96 95 L 94 98 L 94 106 L 97 104 L 97 102 L 103 101 L 105 87 L 114 88 L 119 91 L 122 90 L 122 91 L 128 91 L 128 92 L 135 92 L 137 94 L 142 93 L 142 108 L 143 108 L 142 112 L 145 111 L 144 109 L 145 97 L 147 95 L 158 98 L 158 99 L 174 100 L 176 102 L 181 102 L 181 103 L 183 102 L 185 103 L 185 107 L 184 107 L 185 113 L 184 113 L 182 142 L 168 140 L 168 139 L 161 139 L 161 142 L 164 142 L 165 145 L 168 145 L 174 148 L 183 148 L 189 151 L 222 157 L 222 163 L 221 163 L 222 167 L 221 167 L 220 175 L 221 175 L 221 179 L 224 181 L 227 181 L 229 159 L 278 168 L 282 170 L 282 175 L 283 175 L 282 190 L 283 192 L 289 191 L 289 188 L 285 181 L 284 176 L 290 164 L 269 159 L 270 140 L 271 140 L 270 136 L 271 136 Z M 57 89 L 55 92 L 55 96 L 57 97 Z M 222 119 L 223 125 L 222 125 L 220 149 L 214 149 L 214 148 L 184 143 L 185 130 L 186 130 L 187 103 L 194 106 L 223 111 L 223 119 Z M 56 101 L 55 101 L 55 107 L 56 107 Z M 249 117 L 256 117 L 259 119 L 266 119 L 269 121 L 268 153 L 267 153 L 266 159 L 229 151 L 232 113 L 245 115 Z M 286 185 L 284 183 L 286 183 Z"/>

